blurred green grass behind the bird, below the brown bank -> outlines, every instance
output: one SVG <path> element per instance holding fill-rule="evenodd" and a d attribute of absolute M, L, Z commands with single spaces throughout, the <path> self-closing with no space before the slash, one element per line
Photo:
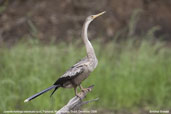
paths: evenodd
<path fill-rule="evenodd" d="M 147 38 L 148 39 L 148 38 Z M 151 40 L 94 41 L 98 67 L 83 82 L 94 84 L 84 108 L 99 110 L 171 109 L 171 52 Z M 0 109 L 57 110 L 74 96 L 73 89 L 48 92 L 29 103 L 27 97 L 51 86 L 70 66 L 86 55 L 83 44 L 20 42 L 0 48 Z"/>

